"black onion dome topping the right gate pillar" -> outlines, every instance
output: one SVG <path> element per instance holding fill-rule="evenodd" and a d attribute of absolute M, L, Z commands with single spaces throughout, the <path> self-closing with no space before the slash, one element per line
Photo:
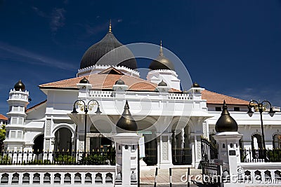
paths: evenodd
<path fill-rule="evenodd" d="M 228 106 L 226 106 L 226 101 L 223 101 L 223 111 L 221 112 L 221 117 L 218 118 L 216 122 L 216 132 L 237 132 L 238 125 L 236 121 L 230 116 L 228 112 Z"/>

